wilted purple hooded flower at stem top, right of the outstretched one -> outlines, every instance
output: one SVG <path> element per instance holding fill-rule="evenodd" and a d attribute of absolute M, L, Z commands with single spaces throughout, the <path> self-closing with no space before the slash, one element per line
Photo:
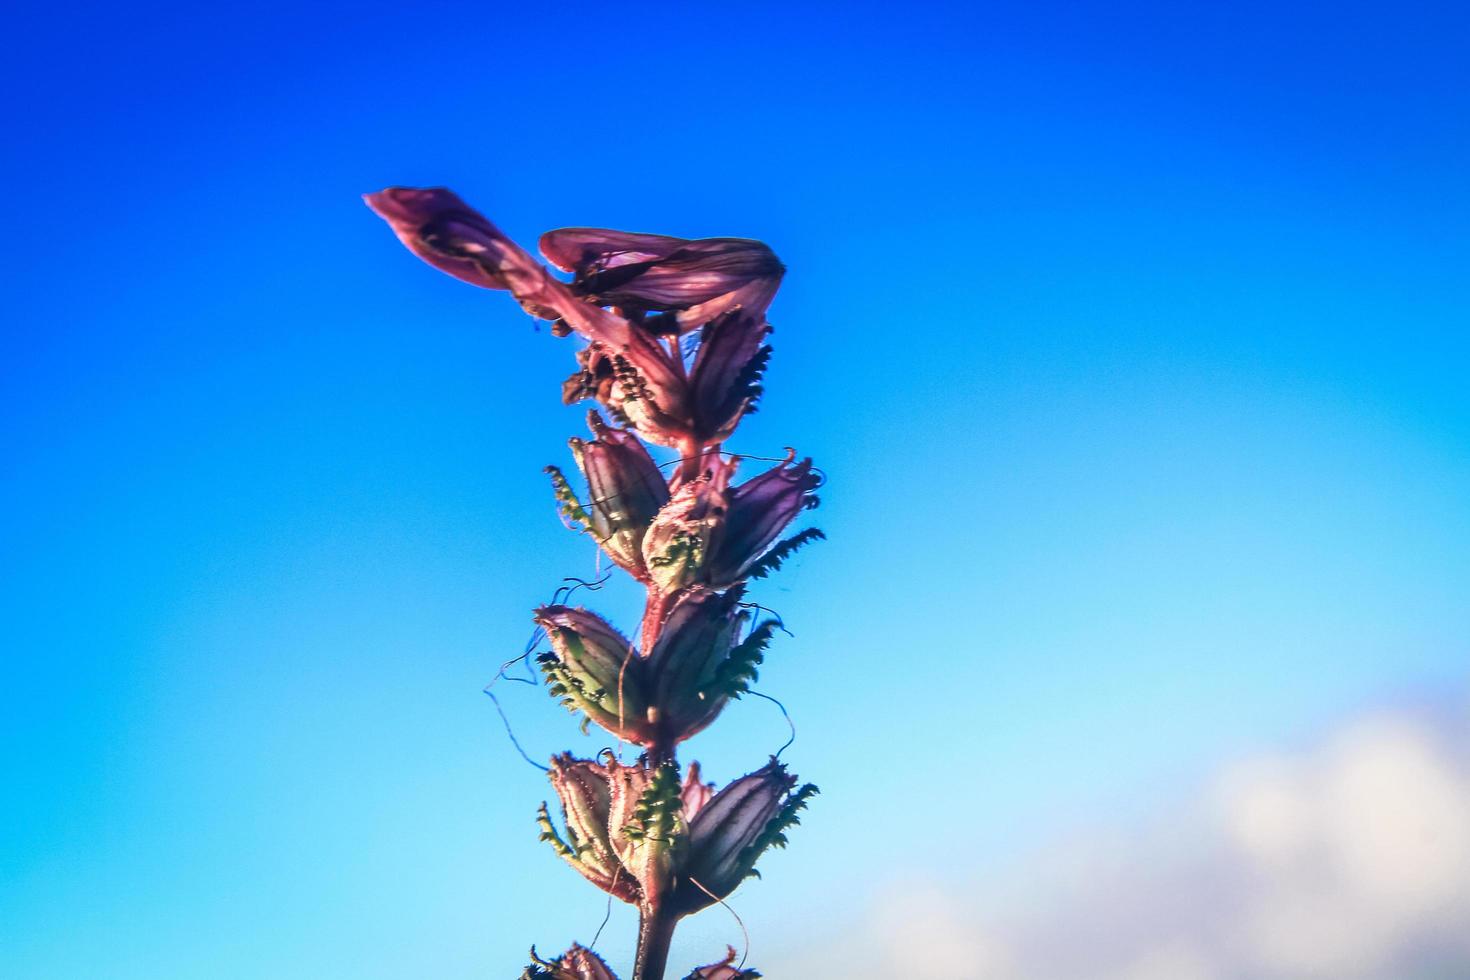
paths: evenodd
<path fill-rule="evenodd" d="M 785 267 L 748 238 L 685 239 L 606 228 L 559 228 L 541 254 L 575 273 L 572 289 L 625 314 L 666 313 L 651 329 L 684 334 L 734 309 L 764 319 Z M 672 320 L 672 322 L 670 322 Z"/>

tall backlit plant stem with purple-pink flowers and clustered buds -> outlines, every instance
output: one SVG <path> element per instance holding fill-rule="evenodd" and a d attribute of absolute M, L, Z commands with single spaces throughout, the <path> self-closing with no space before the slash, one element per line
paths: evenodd
<path fill-rule="evenodd" d="M 816 793 L 775 758 L 719 790 L 698 763 L 676 758 L 679 742 L 750 689 L 775 632 L 773 620 L 754 621 L 745 585 L 822 536 L 781 536 L 816 505 L 810 460 L 788 454 L 736 482 L 739 458 L 722 450 L 760 397 L 782 264 L 744 238 L 563 228 L 541 237 L 541 253 L 572 273 L 564 282 L 451 191 L 388 188 L 366 200 L 429 264 L 506 289 L 559 336 L 585 341 L 562 394 L 601 410 L 588 413 L 591 438 L 570 441 L 587 492 L 548 473 L 564 520 L 642 585 L 647 602 L 634 639 L 581 607 L 538 608 L 551 648 L 538 666 L 584 726 L 639 754 L 628 764 L 612 751 L 553 757 L 562 826 L 545 804 L 538 824 L 582 877 L 638 908 L 634 980 L 662 980 L 678 921 L 754 874 Z M 673 453 L 669 478 L 645 444 Z M 757 976 L 731 952 L 688 980 Z M 582 946 L 537 958 L 522 977 L 616 980 Z"/>

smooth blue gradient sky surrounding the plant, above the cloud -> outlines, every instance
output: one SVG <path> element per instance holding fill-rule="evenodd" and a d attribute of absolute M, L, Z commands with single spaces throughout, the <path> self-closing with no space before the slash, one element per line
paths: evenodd
<path fill-rule="evenodd" d="M 825 793 L 735 899 L 756 965 L 895 877 L 983 877 L 1463 685 L 1458 4 L 10 28 L 7 977 L 510 977 L 597 929 L 481 693 L 594 566 L 541 475 L 573 347 L 409 257 L 359 200 L 388 184 L 526 242 L 745 235 L 791 269 L 734 448 L 831 478 L 831 542 L 759 592 Z M 541 692 L 506 707 L 538 755 L 597 748 Z M 784 738 L 748 701 L 692 749 L 728 779 Z M 684 936 L 692 964 L 739 933 Z"/>

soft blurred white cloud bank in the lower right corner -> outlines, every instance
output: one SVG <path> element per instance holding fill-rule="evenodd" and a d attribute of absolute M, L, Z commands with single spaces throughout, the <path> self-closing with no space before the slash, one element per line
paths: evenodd
<path fill-rule="evenodd" d="M 1014 876 L 883 889 L 869 921 L 769 976 L 851 980 L 1470 977 L 1470 727 L 1360 718 L 1226 767 L 1147 826 Z M 775 952 L 775 951 L 773 951 Z M 798 961 L 800 959 L 800 961 Z"/>

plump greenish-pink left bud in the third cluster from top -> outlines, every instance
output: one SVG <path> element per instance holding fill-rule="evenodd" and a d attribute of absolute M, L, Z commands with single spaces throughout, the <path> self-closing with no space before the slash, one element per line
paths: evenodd
<path fill-rule="evenodd" d="M 654 718 L 632 644 L 584 608 L 544 605 L 535 619 L 551 642 L 553 652 L 537 658 L 551 695 L 620 739 L 647 742 Z"/>

